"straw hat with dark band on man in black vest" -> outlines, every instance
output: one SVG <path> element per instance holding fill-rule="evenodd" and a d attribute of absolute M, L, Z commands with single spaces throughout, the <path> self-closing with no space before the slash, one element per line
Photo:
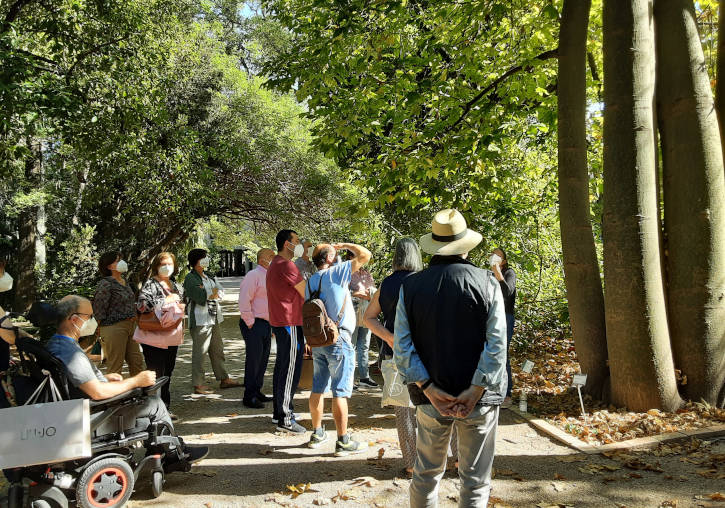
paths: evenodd
<path fill-rule="evenodd" d="M 465 254 L 481 243 L 479 233 L 468 229 L 461 212 L 448 208 L 433 217 L 432 233 L 420 237 L 420 248 L 428 254 Z"/>

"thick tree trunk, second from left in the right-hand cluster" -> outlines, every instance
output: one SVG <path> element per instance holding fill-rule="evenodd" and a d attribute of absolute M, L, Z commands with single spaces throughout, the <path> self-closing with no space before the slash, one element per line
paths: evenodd
<path fill-rule="evenodd" d="M 651 0 L 605 0 L 604 303 L 612 401 L 681 404 L 662 279 Z"/>

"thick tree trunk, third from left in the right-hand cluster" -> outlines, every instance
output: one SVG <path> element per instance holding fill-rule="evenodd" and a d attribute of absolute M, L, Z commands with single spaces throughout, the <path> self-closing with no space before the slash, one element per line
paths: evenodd
<path fill-rule="evenodd" d="M 692 0 L 658 0 L 657 118 L 662 138 L 668 316 L 675 365 L 694 401 L 725 384 L 725 170 Z"/>

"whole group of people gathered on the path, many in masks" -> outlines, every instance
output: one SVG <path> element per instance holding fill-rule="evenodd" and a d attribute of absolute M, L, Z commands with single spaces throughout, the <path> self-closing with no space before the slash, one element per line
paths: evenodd
<path fill-rule="evenodd" d="M 481 240 L 458 211 L 443 210 L 435 215 L 432 232 L 419 243 L 397 242 L 392 274 L 376 288 L 364 269 L 371 259 L 365 247 L 313 246 L 293 230 L 280 231 L 276 253 L 261 249 L 256 268 L 240 285 L 239 328 L 246 345 L 243 404 L 262 408 L 271 401 L 277 430 L 310 432 L 308 446 L 320 448 L 332 440 L 323 425 L 324 395 L 329 392 L 335 455 L 363 452 L 367 443 L 353 439 L 348 428 L 347 400 L 355 387 L 356 363 L 359 385 L 377 386 L 368 371 L 372 332 L 382 340 L 381 359 L 393 360 L 408 385 L 410 404 L 396 406 L 395 415 L 405 467 L 412 474 L 411 506 L 436 505 L 451 452 L 461 477 L 460 505 L 486 506 L 499 406 L 509 402 L 511 394 L 507 349 L 516 280 L 502 249 L 491 253 L 490 271 L 467 260 Z M 426 269 L 421 249 L 432 256 Z M 92 306 L 76 296 L 61 300 L 62 320 L 49 349 L 66 363 L 75 386 L 95 399 L 149 386 L 157 376 L 171 377 L 185 313 L 193 340 L 194 392 L 212 391 L 204 384 L 206 355 L 221 388 L 239 386 L 224 366 L 219 329 L 223 288 L 205 270 L 206 251 L 192 250 L 188 263 L 191 271 L 182 288 L 174 278 L 178 273 L 174 255 L 158 254 L 151 277 L 135 298 L 123 277 L 126 262 L 120 254 L 109 253 L 99 263 L 104 278 Z M 338 337 L 310 350 L 302 309 L 312 298 L 324 303 Z M 106 376 L 78 356 L 82 352 L 78 338 L 95 332 L 96 319 L 104 342 Z M 268 396 L 262 387 L 273 336 L 277 354 Z M 311 354 L 314 364 L 309 430 L 297 421 L 293 405 L 305 353 Z M 144 361 L 149 370 L 144 370 Z M 120 376 L 124 362 L 131 375 L 126 380 Z M 149 407 L 148 413 L 171 424 L 168 384 L 161 399 L 163 404 Z M 189 447 L 186 453 L 189 460 L 198 460 L 205 452 Z"/>

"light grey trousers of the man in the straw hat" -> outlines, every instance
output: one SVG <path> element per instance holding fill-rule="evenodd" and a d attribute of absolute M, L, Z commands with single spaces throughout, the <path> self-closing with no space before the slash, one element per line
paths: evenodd
<path fill-rule="evenodd" d="M 417 456 L 410 483 L 410 506 L 438 506 L 438 485 L 446 468 L 451 432 L 458 432 L 459 507 L 485 508 L 491 491 L 498 406 L 477 405 L 467 418 L 443 417 L 429 404 L 418 406 Z"/>

